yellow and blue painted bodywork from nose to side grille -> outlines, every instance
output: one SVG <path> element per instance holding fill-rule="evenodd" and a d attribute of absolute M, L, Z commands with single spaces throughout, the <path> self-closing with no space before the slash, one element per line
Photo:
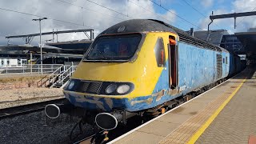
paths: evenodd
<path fill-rule="evenodd" d="M 69 93 L 64 91 L 66 98 L 75 106 L 82 106 L 87 109 L 111 111 L 114 108 L 122 108 L 128 111 L 138 111 L 158 106 L 216 81 L 215 73 L 217 70 L 214 69 L 216 51 L 204 50 L 179 42 L 178 86 L 175 89 L 176 92 L 171 90 L 169 83 L 170 61 L 167 53 L 169 35 L 162 33 L 147 34 L 145 43 L 149 45 L 142 46 L 135 62 L 81 62 L 78 70 L 73 75 L 73 78 L 88 81 L 133 82 L 137 91 L 134 90 L 130 94 L 123 96 Z M 159 36 L 165 39 L 166 67 L 158 67 L 156 69 L 154 45 Z M 191 62 L 193 65 L 191 65 Z M 135 64 L 138 67 L 142 67 L 142 69 L 133 69 Z M 138 75 L 140 75 L 139 78 Z"/>

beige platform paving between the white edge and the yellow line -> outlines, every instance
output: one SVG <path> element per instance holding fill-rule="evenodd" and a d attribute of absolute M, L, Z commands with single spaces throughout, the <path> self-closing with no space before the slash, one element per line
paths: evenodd
<path fill-rule="evenodd" d="M 186 143 L 191 140 L 190 138 L 194 139 L 198 131 L 202 131 L 201 129 L 213 115 L 218 115 L 222 110 L 220 107 L 229 102 L 247 75 L 248 71 L 238 74 L 214 90 L 194 98 L 186 105 L 171 110 L 153 122 L 140 126 L 110 143 Z"/>

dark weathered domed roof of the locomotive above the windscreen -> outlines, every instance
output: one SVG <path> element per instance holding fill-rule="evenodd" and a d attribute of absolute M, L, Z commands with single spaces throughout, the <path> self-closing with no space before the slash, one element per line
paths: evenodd
<path fill-rule="evenodd" d="M 104 34 L 142 33 L 155 31 L 178 34 L 179 40 L 181 42 L 190 43 L 192 45 L 202 47 L 203 49 L 222 51 L 219 46 L 210 44 L 206 41 L 203 41 L 202 39 L 194 38 L 175 26 L 171 26 L 166 22 L 158 21 L 155 19 L 130 19 L 111 26 L 110 28 L 102 31 L 102 33 L 98 36 Z"/>

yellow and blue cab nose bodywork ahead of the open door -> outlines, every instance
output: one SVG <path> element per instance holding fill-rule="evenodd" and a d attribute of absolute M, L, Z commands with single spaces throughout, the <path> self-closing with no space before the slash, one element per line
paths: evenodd
<path fill-rule="evenodd" d="M 134 62 L 80 62 L 72 76 L 74 79 L 86 81 L 132 82 L 135 89 L 130 94 L 98 95 L 70 93 L 69 90 L 64 90 L 66 98 L 75 106 L 88 109 L 110 111 L 118 107 L 128 111 L 138 111 L 158 106 L 177 97 L 178 94 L 171 97 L 167 94 L 169 89 L 167 45 L 163 45 L 166 51 L 166 67 L 158 67 L 154 53 L 158 38 L 161 36 L 163 43 L 167 44 L 170 35 L 176 37 L 171 33 L 147 34 L 145 45 L 138 52 L 138 58 Z M 161 98 L 158 98 L 159 94 Z"/>

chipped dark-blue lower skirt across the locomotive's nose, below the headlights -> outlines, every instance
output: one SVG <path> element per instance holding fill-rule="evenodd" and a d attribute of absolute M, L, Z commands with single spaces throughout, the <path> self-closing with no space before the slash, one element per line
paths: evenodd
<path fill-rule="evenodd" d="M 103 110 L 106 112 L 110 112 L 114 108 L 123 108 L 127 111 L 145 110 L 161 105 L 163 102 L 168 102 L 171 99 L 177 98 L 179 95 L 181 95 L 177 94 L 176 96 L 171 97 L 170 95 L 166 94 L 165 91 L 165 95 L 163 95 L 159 100 L 157 100 L 157 96 L 152 95 L 137 97 L 129 100 L 128 98 L 95 98 L 93 96 L 87 96 L 86 94 L 71 94 L 66 92 L 64 92 L 64 94 L 74 106 L 82 106 L 89 110 Z M 78 101 L 78 99 L 83 100 Z M 88 102 L 88 100 L 90 100 L 90 102 Z M 133 102 L 137 103 L 133 104 Z"/>

